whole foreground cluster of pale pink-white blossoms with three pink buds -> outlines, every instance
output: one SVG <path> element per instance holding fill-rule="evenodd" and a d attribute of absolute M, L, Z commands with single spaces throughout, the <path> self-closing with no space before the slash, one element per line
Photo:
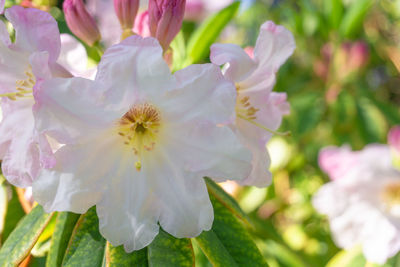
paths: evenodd
<path fill-rule="evenodd" d="M 138 1 L 114 4 L 122 29 L 132 30 Z M 215 44 L 213 64 L 171 73 L 163 55 L 180 30 L 184 5 L 151 0 L 155 38 L 125 34 L 106 50 L 94 80 L 80 67 L 82 46 L 60 37 L 48 13 L 7 9 L 15 43 L 0 21 L 4 176 L 32 186 L 47 212 L 85 213 L 95 205 L 101 234 L 126 251 L 150 244 L 160 226 L 176 237 L 209 230 L 205 176 L 268 185 L 265 144 L 289 112 L 286 95 L 272 88 L 295 44 L 272 22 L 262 25 L 254 55 Z M 101 40 L 82 0 L 64 1 L 64 10 L 82 41 Z"/>

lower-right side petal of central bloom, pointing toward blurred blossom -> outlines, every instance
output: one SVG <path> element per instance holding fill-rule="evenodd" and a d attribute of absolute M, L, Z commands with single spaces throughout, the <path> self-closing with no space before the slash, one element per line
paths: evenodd
<path fill-rule="evenodd" d="M 242 180 L 251 171 L 251 153 L 228 127 L 192 121 L 171 125 L 179 128 L 170 136 L 170 150 L 188 171 L 216 181 Z"/>

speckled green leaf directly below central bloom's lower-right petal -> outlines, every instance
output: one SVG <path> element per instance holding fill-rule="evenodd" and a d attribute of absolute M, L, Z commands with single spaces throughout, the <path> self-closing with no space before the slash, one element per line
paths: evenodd
<path fill-rule="evenodd" d="M 177 239 L 160 229 L 147 249 L 151 267 L 194 266 L 192 242 L 188 238 Z"/>

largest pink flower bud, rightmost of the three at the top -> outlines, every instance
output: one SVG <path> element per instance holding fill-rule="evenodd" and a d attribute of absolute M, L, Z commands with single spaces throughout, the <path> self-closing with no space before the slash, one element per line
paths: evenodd
<path fill-rule="evenodd" d="M 164 51 L 182 27 L 185 4 L 186 0 L 149 0 L 150 33 Z"/>

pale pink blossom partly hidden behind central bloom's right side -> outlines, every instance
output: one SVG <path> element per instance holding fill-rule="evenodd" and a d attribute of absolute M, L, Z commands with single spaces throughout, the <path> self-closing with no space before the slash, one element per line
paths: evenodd
<path fill-rule="evenodd" d="M 294 49 L 290 31 L 271 21 L 261 26 L 253 58 L 234 44 L 211 47 L 210 58 L 214 64 L 228 63 L 224 74 L 235 83 L 237 90 L 234 129 L 242 143 L 253 152 L 253 171 L 243 184 L 263 187 L 271 182 L 270 158 L 265 149 L 272 135 L 268 129 L 277 129 L 282 116 L 289 113 L 286 94 L 271 91 L 276 71 Z"/>

